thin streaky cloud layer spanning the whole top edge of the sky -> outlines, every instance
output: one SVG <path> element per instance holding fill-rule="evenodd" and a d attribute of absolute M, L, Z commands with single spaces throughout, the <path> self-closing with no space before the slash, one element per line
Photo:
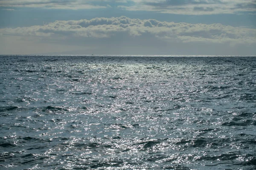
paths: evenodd
<path fill-rule="evenodd" d="M 92 9 L 120 8 L 170 14 L 235 14 L 256 12 L 255 0 L 0 0 L 0 7 Z"/>

